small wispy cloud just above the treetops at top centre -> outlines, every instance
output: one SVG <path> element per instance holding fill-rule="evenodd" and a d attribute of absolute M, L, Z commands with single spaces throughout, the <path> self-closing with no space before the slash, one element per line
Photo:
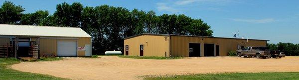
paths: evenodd
<path fill-rule="evenodd" d="M 169 12 L 177 12 L 178 10 L 169 6 L 167 3 L 162 3 L 162 2 L 158 2 L 157 4 L 157 9 L 158 11 L 169 11 Z"/>

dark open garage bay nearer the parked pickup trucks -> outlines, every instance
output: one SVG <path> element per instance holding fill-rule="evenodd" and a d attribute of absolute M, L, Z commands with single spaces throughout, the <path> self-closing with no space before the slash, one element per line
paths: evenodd
<path fill-rule="evenodd" d="M 205 43 L 203 45 L 204 48 L 204 56 L 214 56 L 214 44 Z"/>

